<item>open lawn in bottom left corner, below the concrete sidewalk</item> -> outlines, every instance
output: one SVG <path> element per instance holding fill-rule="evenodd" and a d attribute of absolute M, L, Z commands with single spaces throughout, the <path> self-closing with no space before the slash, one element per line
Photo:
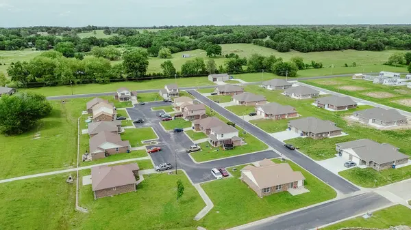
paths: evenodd
<path fill-rule="evenodd" d="M 0 184 L 0 229 L 71 229 L 75 183 L 66 183 L 69 175 Z"/>

